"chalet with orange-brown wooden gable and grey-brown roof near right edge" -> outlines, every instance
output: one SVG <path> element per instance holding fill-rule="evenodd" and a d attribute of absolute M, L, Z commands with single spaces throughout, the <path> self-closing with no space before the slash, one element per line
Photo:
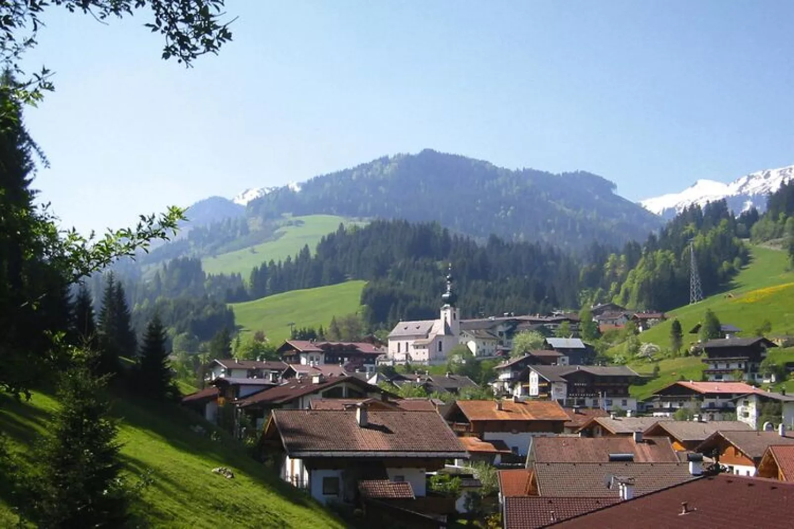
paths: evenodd
<path fill-rule="evenodd" d="M 773 445 L 794 445 L 794 435 L 783 425 L 777 431 L 715 431 L 696 450 L 727 466 L 730 473 L 754 476 L 766 449 Z"/>

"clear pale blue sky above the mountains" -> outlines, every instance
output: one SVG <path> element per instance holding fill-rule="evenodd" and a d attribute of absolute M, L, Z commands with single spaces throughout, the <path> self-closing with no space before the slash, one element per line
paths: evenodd
<path fill-rule="evenodd" d="M 233 42 L 160 59 L 141 10 L 50 8 L 25 122 L 64 226 L 424 148 L 590 171 L 630 200 L 794 163 L 794 2 L 227 0 Z"/>

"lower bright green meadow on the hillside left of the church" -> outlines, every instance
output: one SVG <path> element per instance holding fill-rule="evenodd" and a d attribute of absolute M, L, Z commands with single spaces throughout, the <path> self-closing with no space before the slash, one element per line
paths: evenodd
<path fill-rule="evenodd" d="M 245 303 L 229 305 L 237 324 L 245 331 L 264 331 L 273 343 L 290 334 L 290 323 L 297 327 L 324 328 L 333 316 L 360 310 L 364 281 L 349 281 L 316 289 L 292 290 Z"/>

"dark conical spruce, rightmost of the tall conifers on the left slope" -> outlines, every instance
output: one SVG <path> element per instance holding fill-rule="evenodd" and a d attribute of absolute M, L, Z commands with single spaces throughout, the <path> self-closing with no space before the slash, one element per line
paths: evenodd
<path fill-rule="evenodd" d="M 145 397 L 164 399 L 173 393 L 174 381 L 165 344 L 165 329 L 160 316 L 155 314 L 146 326 L 138 356 L 139 387 Z"/>

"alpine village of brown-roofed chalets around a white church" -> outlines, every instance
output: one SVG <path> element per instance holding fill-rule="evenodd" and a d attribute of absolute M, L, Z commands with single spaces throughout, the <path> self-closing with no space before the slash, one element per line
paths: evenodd
<path fill-rule="evenodd" d="M 614 304 L 592 314 L 605 328 L 665 320 Z M 288 339 L 280 361 L 214 358 L 206 387 L 182 404 L 256 439 L 283 481 L 368 527 L 737 527 L 725 506 L 746 501 L 784 516 L 794 396 L 757 387 L 776 343 L 723 325 L 721 338 L 700 343 L 703 380 L 638 400 L 629 388 L 642 376 L 596 365 L 574 337 L 580 323 L 562 312 L 461 320 L 450 273 L 437 320 L 401 321 L 387 343 Z M 571 336 L 510 355 L 518 333 L 563 324 Z M 461 345 L 471 362 L 501 358 L 487 388 L 422 370 Z M 414 372 L 395 370 L 406 365 Z M 401 397 L 407 388 L 430 397 Z"/>

